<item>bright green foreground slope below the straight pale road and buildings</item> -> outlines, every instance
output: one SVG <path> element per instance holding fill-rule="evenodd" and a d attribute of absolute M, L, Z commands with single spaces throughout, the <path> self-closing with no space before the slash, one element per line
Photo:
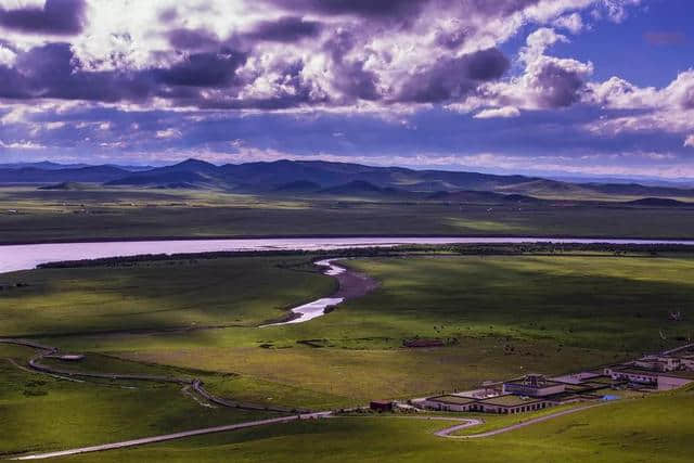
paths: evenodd
<path fill-rule="evenodd" d="M 65 461 L 134 462 L 689 462 L 694 394 L 621 400 L 509 434 L 447 440 L 449 424 L 390 417 L 335 419 L 194 438 Z"/>

